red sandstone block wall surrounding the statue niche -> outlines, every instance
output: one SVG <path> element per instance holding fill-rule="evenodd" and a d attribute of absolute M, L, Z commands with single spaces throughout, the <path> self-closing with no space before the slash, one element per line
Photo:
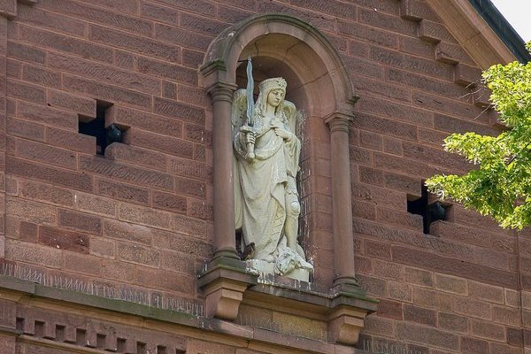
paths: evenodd
<path fill-rule="evenodd" d="M 196 299 L 197 267 L 212 253 L 212 117 L 197 67 L 223 28 L 263 12 L 324 32 L 361 96 L 350 135 L 356 266 L 381 304 L 360 348 L 522 353 L 529 312 L 520 311 L 519 282 L 531 290 L 531 278 L 518 270 L 531 273 L 531 243 L 458 206 L 423 235 L 406 211 L 422 179 L 466 170 L 443 152 L 445 135 L 496 133 L 492 112 L 465 87 L 479 78 L 473 60 L 423 1 L 19 4 L 7 42 L 5 259 Z M 106 158 L 77 134 L 96 99 L 130 127 L 129 144 Z M 326 184 L 326 155 L 313 164 L 325 177 L 315 183 Z M 325 221 L 315 227 L 330 240 L 327 190 L 319 188 Z M 330 256 L 331 242 L 315 247 Z M 323 281 L 333 275 L 320 272 Z"/>

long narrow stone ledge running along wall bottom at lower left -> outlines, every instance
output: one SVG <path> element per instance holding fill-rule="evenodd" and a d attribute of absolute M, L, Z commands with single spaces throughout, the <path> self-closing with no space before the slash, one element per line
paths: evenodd
<path fill-rule="evenodd" d="M 153 308 L 143 304 L 93 296 L 72 290 L 50 288 L 31 281 L 21 281 L 4 275 L 0 275 L 0 296 L 23 306 L 31 304 L 34 307 L 49 308 L 53 304 L 54 311 L 63 312 L 69 312 L 72 309 L 72 305 L 75 304 L 78 310 L 81 309 L 82 312 L 87 313 L 89 316 L 95 316 L 96 313 L 99 313 L 97 315 L 98 318 L 109 318 L 114 322 L 156 329 L 169 334 L 182 335 L 179 327 L 188 327 L 193 329 L 193 331 L 187 332 L 194 338 L 204 340 L 204 331 L 206 331 L 211 337 L 215 335 L 215 338 L 223 335 L 224 339 L 219 339 L 219 341 L 224 343 L 234 342 L 233 345 L 236 347 L 248 345 L 247 343 L 249 342 L 256 342 L 262 347 L 265 346 L 274 350 L 284 348 L 294 350 L 294 352 L 299 350 L 299 352 L 304 353 L 361 354 L 365 352 L 338 344 L 284 335 L 263 328 L 237 325 L 220 319 L 206 319 L 187 313 Z M 83 309 L 83 307 L 86 307 L 86 309 Z M 0 333 L 15 335 L 24 341 L 33 338 L 7 327 L 1 327 Z M 33 339 L 31 340 L 33 341 Z M 42 342 L 52 343 L 53 341 L 42 340 Z M 62 343 L 53 343 L 56 347 L 57 345 L 63 345 Z M 70 344 L 68 348 L 71 348 Z M 80 347 L 78 346 L 77 348 Z"/>

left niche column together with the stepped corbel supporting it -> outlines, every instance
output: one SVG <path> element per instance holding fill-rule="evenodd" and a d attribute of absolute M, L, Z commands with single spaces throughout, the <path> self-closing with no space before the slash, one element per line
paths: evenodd
<path fill-rule="evenodd" d="M 232 98 L 236 86 L 219 80 L 218 74 L 212 71 L 206 78 L 213 81 L 207 91 L 212 96 L 214 257 L 205 266 L 197 285 L 204 290 L 207 317 L 235 320 L 243 293 L 251 284 L 257 284 L 258 276 L 246 272 L 236 253 L 231 139 Z"/>

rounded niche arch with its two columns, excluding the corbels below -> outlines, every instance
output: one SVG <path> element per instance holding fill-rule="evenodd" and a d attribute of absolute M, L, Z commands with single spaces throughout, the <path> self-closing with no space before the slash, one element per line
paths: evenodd
<path fill-rule="evenodd" d="M 248 56 L 253 58 L 258 76 L 282 76 L 288 81 L 288 99 L 304 111 L 304 134 L 326 147 L 319 149 L 314 142 L 305 146 L 303 160 L 309 159 L 311 169 L 319 168 L 320 154 L 327 159 L 323 165 L 328 170 L 323 173 L 325 182 L 310 177 L 312 195 L 307 205 L 317 213 L 322 192 L 329 195 L 332 206 L 325 220 L 316 214 L 308 227 L 330 241 L 330 249 L 323 248 L 327 257 L 317 260 L 330 263 L 328 273 L 321 270 L 326 274 L 320 281 L 331 280 L 327 286 L 335 288 L 356 286 L 349 158 L 349 123 L 356 97 L 342 60 L 327 38 L 304 21 L 286 15 L 260 15 L 228 27 L 212 42 L 201 68 L 204 87 L 212 96 L 214 259 L 237 258 L 230 112 L 235 89 L 244 86 L 238 66 Z"/>

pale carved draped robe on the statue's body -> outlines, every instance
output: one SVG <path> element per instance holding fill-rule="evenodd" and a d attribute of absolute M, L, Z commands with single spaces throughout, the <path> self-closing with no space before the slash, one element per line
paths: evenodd
<path fill-rule="evenodd" d="M 236 226 L 242 227 L 245 244 L 255 243 L 255 259 L 273 262 L 279 248 L 286 247 L 283 228 L 286 220 L 287 186 L 295 187 L 301 143 L 294 135 L 284 140 L 271 128 L 273 117 L 257 119 L 256 158 L 245 159 L 245 135 L 235 135 Z M 286 130 L 289 127 L 281 123 Z M 296 192 L 296 190 L 295 190 Z"/>

